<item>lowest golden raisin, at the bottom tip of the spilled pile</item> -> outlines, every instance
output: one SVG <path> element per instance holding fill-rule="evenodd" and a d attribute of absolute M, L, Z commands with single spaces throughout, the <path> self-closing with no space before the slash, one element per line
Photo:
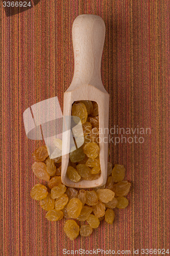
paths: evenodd
<path fill-rule="evenodd" d="M 64 225 L 66 236 L 72 241 L 79 236 L 80 227 L 74 220 L 67 220 Z"/>

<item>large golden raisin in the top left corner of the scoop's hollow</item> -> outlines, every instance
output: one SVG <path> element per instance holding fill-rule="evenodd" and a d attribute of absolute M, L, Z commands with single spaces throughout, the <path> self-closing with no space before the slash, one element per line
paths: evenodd
<path fill-rule="evenodd" d="M 85 123 L 88 116 L 85 104 L 83 104 L 82 102 L 75 102 L 72 105 L 72 116 L 78 116 L 82 124 Z M 77 123 L 76 119 L 74 120 Z"/>

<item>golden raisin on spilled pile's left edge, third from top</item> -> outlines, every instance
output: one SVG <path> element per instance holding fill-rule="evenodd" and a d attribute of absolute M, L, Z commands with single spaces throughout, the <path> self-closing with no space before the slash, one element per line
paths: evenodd
<path fill-rule="evenodd" d="M 44 185 L 36 184 L 31 189 L 30 196 L 34 200 L 44 199 L 48 195 L 47 188 Z"/>

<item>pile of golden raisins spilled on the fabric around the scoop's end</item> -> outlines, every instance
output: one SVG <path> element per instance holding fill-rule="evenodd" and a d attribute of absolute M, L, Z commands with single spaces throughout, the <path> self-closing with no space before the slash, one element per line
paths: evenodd
<path fill-rule="evenodd" d="M 59 221 L 63 217 L 68 219 L 64 231 L 70 240 L 76 239 L 79 233 L 82 237 L 89 237 L 93 228 L 97 228 L 103 219 L 112 224 L 113 209 L 115 207 L 124 209 L 128 206 L 129 202 L 125 196 L 129 193 L 131 183 L 124 180 L 123 165 L 115 164 L 112 168 L 112 164 L 108 162 L 108 178 L 104 186 L 93 190 L 75 189 L 66 187 L 61 182 L 61 157 L 50 159 L 44 145 L 38 147 L 32 156 L 35 161 L 32 165 L 33 173 L 39 179 L 46 181 L 46 186 L 36 184 L 31 189 L 30 195 L 32 199 L 39 201 L 42 209 L 47 211 L 45 215 L 47 220 Z M 96 159 L 88 159 L 89 162 L 94 160 Z M 77 168 L 80 176 L 86 179 L 88 172 L 84 174 L 81 164 Z M 76 219 L 80 225 L 72 219 Z"/>

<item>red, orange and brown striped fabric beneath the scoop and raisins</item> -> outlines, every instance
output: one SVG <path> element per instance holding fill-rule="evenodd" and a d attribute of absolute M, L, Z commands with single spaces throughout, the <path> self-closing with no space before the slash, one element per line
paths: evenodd
<path fill-rule="evenodd" d="M 63 248 L 103 248 L 133 255 L 133 248 L 168 249 L 169 1 L 41 0 L 10 17 L 0 5 L 0 254 L 60 256 Z M 79 14 L 100 15 L 106 24 L 102 80 L 110 94 L 110 128 L 149 127 L 151 134 L 135 134 L 143 143 L 110 143 L 112 163 L 124 164 L 133 184 L 130 204 L 115 210 L 112 226 L 103 222 L 90 238 L 71 242 L 65 221 L 48 222 L 30 198 L 39 182 L 31 153 L 42 141 L 27 139 L 22 114 L 56 95 L 63 106 L 74 73 L 71 26 Z"/>

